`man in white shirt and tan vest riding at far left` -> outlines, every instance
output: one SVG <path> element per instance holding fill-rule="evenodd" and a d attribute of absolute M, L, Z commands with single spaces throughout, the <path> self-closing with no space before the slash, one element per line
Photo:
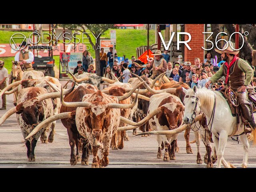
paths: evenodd
<path fill-rule="evenodd" d="M 26 41 L 23 41 L 22 44 L 19 46 L 19 50 L 15 57 L 14 61 L 17 61 L 23 71 L 31 71 L 34 70 L 32 66 L 32 62 L 34 61 L 34 54 L 28 50 L 28 44 Z M 12 83 L 12 72 L 10 74 L 9 84 Z"/>

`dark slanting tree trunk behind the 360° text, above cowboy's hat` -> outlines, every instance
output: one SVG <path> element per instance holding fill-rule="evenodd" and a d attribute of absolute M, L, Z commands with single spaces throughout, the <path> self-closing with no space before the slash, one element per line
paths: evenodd
<path fill-rule="evenodd" d="M 235 26 L 233 24 L 225 24 L 224 26 L 227 29 L 229 37 L 232 33 L 234 33 L 236 31 Z M 232 40 L 232 42 L 235 42 L 235 34 L 232 35 L 231 40 Z M 239 46 L 238 46 L 239 48 L 242 46 L 242 43 L 243 43 L 242 37 L 239 35 Z M 248 43 L 246 38 L 244 38 L 244 46 L 240 49 L 239 54 L 240 54 L 240 58 L 242 58 L 244 60 L 250 60 L 250 58 L 252 58 L 252 47 Z"/>

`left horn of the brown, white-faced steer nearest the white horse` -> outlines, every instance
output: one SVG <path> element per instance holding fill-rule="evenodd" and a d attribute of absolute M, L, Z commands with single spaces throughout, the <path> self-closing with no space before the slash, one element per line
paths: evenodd
<path fill-rule="evenodd" d="M 124 122 L 124 123 L 126 123 L 126 124 L 128 124 L 128 125 L 132 125 L 132 126 L 136 126 L 136 128 L 137 127 L 139 127 L 139 126 L 142 126 L 143 124 L 145 124 L 146 122 L 148 122 L 152 117 L 154 117 L 156 114 L 158 114 L 159 112 L 161 112 L 161 107 L 158 107 L 158 108 L 156 108 L 154 111 L 152 111 L 150 114 L 148 114 L 144 119 L 142 119 L 140 122 L 133 122 L 133 121 L 131 121 L 131 120 L 128 120 L 128 119 L 126 119 L 126 118 L 124 118 L 124 117 L 122 117 L 122 116 L 120 116 L 120 121 L 122 121 L 122 122 Z M 127 129 L 125 129 L 126 127 L 122 127 L 122 128 L 118 128 L 118 131 L 121 131 L 121 130 L 127 130 Z M 134 129 L 134 128 L 132 128 L 132 129 Z M 128 130 L 130 130 L 130 129 L 128 129 Z"/>

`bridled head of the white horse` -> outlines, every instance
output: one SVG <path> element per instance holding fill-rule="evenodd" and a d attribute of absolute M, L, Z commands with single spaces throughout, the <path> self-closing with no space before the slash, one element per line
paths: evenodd
<path fill-rule="evenodd" d="M 192 89 L 186 90 L 184 88 L 183 92 L 186 94 L 184 98 L 184 104 L 186 106 L 184 112 L 184 123 L 190 124 L 192 119 L 195 118 L 196 113 L 200 112 L 200 104 L 196 94 L 197 88 L 194 86 Z"/>

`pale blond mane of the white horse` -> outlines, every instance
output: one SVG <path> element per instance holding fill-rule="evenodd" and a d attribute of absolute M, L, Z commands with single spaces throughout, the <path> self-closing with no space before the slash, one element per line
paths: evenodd
<path fill-rule="evenodd" d="M 200 106 L 206 107 L 206 110 L 212 110 L 212 108 L 214 106 L 214 94 L 216 96 L 216 102 L 218 102 L 220 100 L 226 101 L 226 99 L 218 91 L 212 91 L 205 87 L 197 88 L 196 95 L 199 98 Z M 190 89 L 188 92 L 188 95 L 193 96 L 194 91 L 192 89 Z"/>

